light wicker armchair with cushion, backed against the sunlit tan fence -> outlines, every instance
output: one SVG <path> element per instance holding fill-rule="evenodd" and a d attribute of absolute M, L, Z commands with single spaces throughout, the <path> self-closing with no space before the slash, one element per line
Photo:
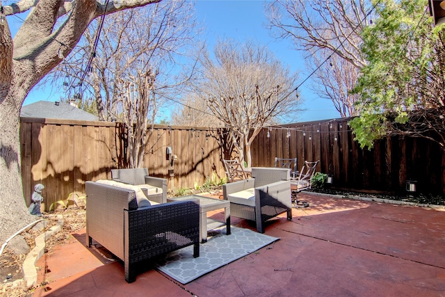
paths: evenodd
<path fill-rule="evenodd" d="M 167 179 L 150 177 L 147 168 L 112 169 L 111 179 L 138 186 L 149 200 L 167 202 Z"/>

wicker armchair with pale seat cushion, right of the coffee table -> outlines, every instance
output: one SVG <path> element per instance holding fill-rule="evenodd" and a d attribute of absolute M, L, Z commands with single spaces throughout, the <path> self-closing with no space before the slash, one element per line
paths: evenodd
<path fill-rule="evenodd" d="M 225 200 L 230 201 L 230 214 L 257 223 L 264 233 L 264 222 L 287 212 L 292 220 L 290 169 L 252 168 L 252 178 L 223 185 Z"/>

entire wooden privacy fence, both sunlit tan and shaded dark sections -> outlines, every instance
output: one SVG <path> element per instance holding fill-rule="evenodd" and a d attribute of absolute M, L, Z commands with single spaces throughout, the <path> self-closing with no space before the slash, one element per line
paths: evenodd
<path fill-rule="evenodd" d="M 317 171 L 334 176 L 334 187 L 405 191 L 408 179 L 423 193 L 445 193 L 445 156 L 424 138 L 388 137 L 372 150 L 360 149 L 350 119 L 306 122 L 263 129 L 252 143 L 252 166 L 273 166 L 275 156 L 320 160 Z M 84 193 L 88 180 L 111 179 L 111 169 L 126 167 L 126 130 L 120 123 L 21 118 L 22 180 L 29 204 L 41 183 L 45 209 L 70 193 Z M 287 137 L 289 135 L 289 137 Z M 155 125 L 144 167 L 169 180 L 168 188 L 193 188 L 209 177 L 225 177 L 222 157 L 233 152 L 224 129 Z M 268 137 L 269 136 L 269 137 Z M 177 160 L 170 166 L 165 150 Z"/>

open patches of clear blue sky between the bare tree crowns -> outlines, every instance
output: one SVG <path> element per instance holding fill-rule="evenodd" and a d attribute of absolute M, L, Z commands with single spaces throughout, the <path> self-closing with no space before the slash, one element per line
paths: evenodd
<path fill-rule="evenodd" d="M 300 71 L 299 81 L 304 81 L 309 75 L 310 72 L 305 70 L 302 53 L 292 49 L 289 40 L 275 40 L 265 28 L 267 18 L 264 13 L 264 1 L 197 0 L 195 12 L 198 22 L 204 27 L 202 38 L 206 40 L 209 49 L 213 49 L 218 38 L 232 38 L 238 41 L 255 40 L 266 45 L 282 61 L 283 65 L 289 66 L 291 71 Z M 15 17 L 8 17 L 11 31 L 16 31 L 20 22 Z M 309 89 L 309 84 L 310 79 L 298 89 L 305 102 L 303 108 L 306 109 L 298 120 L 305 122 L 339 118 L 340 115 L 332 102 L 316 96 Z M 53 90 L 51 86 L 31 90 L 24 104 L 39 100 L 56 101 L 60 99 L 57 90 L 58 88 Z M 164 113 L 168 113 L 168 111 Z M 163 118 L 162 115 L 161 118 Z"/>

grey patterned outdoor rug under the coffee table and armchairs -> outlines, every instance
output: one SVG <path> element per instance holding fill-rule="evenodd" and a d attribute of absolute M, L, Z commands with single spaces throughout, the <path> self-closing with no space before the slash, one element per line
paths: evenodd
<path fill-rule="evenodd" d="M 201 243 L 200 257 L 193 258 L 193 246 L 188 246 L 170 252 L 155 266 L 181 284 L 186 284 L 279 239 L 233 226 L 230 230 L 232 234 L 226 235 L 223 227 L 219 234 Z"/>

